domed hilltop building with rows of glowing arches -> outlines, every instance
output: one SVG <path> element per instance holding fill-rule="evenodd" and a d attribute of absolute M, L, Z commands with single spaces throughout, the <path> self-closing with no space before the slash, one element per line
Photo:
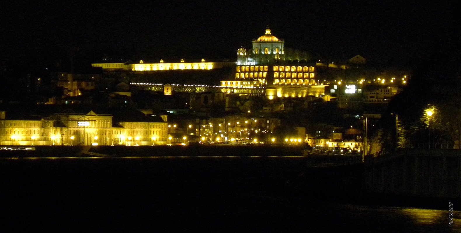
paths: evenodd
<path fill-rule="evenodd" d="M 324 97 L 325 85 L 316 80 L 315 63 L 290 63 L 285 60 L 284 41 L 271 34 L 269 28 L 253 48 L 237 50 L 234 80 L 221 81 L 223 87 L 265 87 L 266 97 Z M 329 100 L 328 97 L 325 100 Z"/>

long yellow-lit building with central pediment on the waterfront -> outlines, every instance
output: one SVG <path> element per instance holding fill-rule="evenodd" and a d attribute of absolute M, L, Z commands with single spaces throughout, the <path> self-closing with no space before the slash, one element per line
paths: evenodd
<path fill-rule="evenodd" d="M 43 119 L 7 119 L 1 112 L 1 145 L 164 145 L 166 122 L 113 122 L 112 115 L 54 114 Z"/>

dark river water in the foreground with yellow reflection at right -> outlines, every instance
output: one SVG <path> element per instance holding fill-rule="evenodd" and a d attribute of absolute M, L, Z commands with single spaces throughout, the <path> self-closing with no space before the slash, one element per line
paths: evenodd
<path fill-rule="evenodd" d="M 0 229 L 43 232 L 460 232 L 441 210 L 287 193 L 300 157 L 0 159 Z"/>

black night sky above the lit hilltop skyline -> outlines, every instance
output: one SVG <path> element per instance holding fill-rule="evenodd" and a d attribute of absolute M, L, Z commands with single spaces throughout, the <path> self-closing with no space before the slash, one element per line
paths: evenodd
<path fill-rule="evenodd" d="M 75 48 L 89 62 L 105 53 L 232 61 L 269 25 L 285 47 L 315 58 L 405 63 L 428 57 L 437 32 L 456 23 L 453 2 L 10 2 L 0 8 L 0 57 L 52 61 Z"/>

